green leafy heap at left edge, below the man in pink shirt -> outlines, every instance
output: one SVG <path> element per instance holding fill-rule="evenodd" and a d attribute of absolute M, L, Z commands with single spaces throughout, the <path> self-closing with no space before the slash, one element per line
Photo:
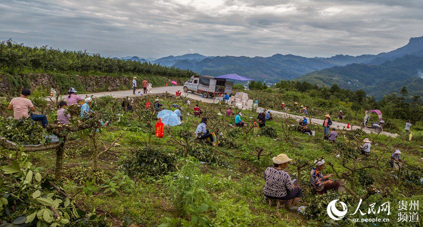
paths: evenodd
<path fill-rule="evenodd" d="M 15 120 L 0 118 L 0 137 L 20 145 L 41 144 L 44 142 L 44 129 L 39 122 L 30 118 Z"/>

